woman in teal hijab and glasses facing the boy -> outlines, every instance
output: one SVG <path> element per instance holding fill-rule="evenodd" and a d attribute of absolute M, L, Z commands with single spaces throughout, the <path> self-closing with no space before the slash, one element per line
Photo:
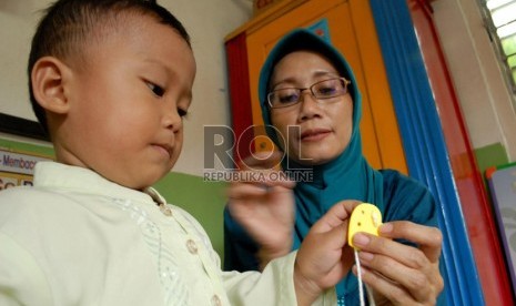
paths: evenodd
<path fill-rule="evenodd" d="M 312 32 L 295 30 L 271 51 L 259 91 L 264 123 L 274 126 L 267 134 L 286 153 L 283 171 L 304 169 L 313 176 L 295 187 L 273 180 L 231 184 L 224 215 L 225 268 L 257 269 L 296 249 L 330 207 L 355 200 L 375 204 L 385 223 L 380 237 L 354 236 L 363 280 L 373 289 L 376 304 L 434 305 L 443 290 L 436 203 L 416 181 L 367 164 L 358 130 L 362 99 L 342 54 Z M 275 159 L 277 153 L 255 155 L 245 162 L 246 169 L 274 171 L 267 163 Z M 294 202 L 295 218 L 294 210 L 289 211 Z M 255 226 L 260 218 L 269 220 L 271 226 Z M 354 258 L 351 247 L 346 248 L 343 261 L 351 268 Z M 358 305 L 354 274 L 337 284 L 340 305 Z"/>

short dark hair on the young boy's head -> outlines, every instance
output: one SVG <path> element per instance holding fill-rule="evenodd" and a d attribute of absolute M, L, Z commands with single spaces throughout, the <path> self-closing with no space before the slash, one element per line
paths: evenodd
<path fill-rule="evenodd" d="M 102 29 L 115 24 L 122 13 L 150 16 L 170 26 L 190 44 L 190 37 L 181 22 L 155 0 L 58 0 L 40 20 L 32 38 L 29 55 L 29 94 L 32 110 L 43 130 L 49 133 L 47 115 L 34 99 L 31 73 L 36 62 L 43 57 L 65 61 L 69 57 L 82 57 L 84 47 L 92 38 L 102 38 Z M 104 27 L 104 28 L 102 28 Z M 104 31 L 105 32 L 105 31 Z M 97 37 L 95 37 L 97 35 Z"/>

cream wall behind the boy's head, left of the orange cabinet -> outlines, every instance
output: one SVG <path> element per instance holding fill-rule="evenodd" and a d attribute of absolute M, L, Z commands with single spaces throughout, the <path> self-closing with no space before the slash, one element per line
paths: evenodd
<path fill-rule="evenodd" d="M 36 120 L 27 90 L 27 59 L 39 10 L 50 0 L 0 0 L 0 112 Z M 174 171 L 202 175 L 205 124 L 230 124 L 224 37 L 252 16 L 250 0 L 159 0 L 184 24 L 198 62 L 185 141 Z M 11 137 L 17 139 L 17 137 Z M 20 139 L 21 140 L 21 139 Z"/>

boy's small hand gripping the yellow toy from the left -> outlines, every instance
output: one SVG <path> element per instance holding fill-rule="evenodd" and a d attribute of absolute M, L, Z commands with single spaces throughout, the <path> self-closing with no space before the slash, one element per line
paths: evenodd
<path fill-rule="evenodd" d="M 321 293 L 335 286 L 353 266 L 347 245 L 348 217 L 357 201 L 342 201 L 321 217 L 301 244 L 294 267 L 299 305 L 310 305 Z"/>

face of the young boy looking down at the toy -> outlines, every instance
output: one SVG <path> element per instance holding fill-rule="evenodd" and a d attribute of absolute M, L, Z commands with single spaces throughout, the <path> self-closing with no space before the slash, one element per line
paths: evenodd
<path fill-rule="evenodd" d="M 122 23 L 122 24 L 121 24 Z M 55 134 L 58 160 L 142 190 L 163 177 L 183 143 L 195 76 L 186 42 L 151 17 L 129 14 L 72 62 L 70 111 Z"/>

